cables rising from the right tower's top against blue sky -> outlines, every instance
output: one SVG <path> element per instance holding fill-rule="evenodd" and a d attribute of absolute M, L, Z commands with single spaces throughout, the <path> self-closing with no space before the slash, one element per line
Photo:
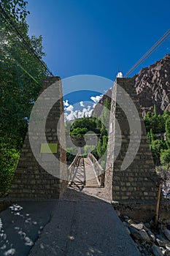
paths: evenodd
<path fill-rule="evenodd" d="M 128 75 L 130 75 L 131 72 L 133 72 L 134 69 L 136 69 L 136 67 L 139 67 L 139 65 L 142 64 L 142 62 L 145 61 L 152 53 L 154 53 L 155 50 L 158 50 L 158 48 L 160 48 L 161 45 L 163 45 L 164 42 L 166 42 L 169 39 L 169 37 L 170 37 L 170 29 L 166 31 L 166 34 L 164 34 L 163 37 L 161 37 L 158 40 L 158 42 L 156 42 L 155 45 L 153 45 L 152 48 L 150 48 L 150 50 L 148 50 L 147 53 L 145 53 L 144 56 L 142 56 L 142 58 L 139 59 L 139 61 L 137 61 L 136 64 L 134 64 L 134 66 L 128 70 L 128 72 L 125 73 L 125 78 L 127 78 Z"/>

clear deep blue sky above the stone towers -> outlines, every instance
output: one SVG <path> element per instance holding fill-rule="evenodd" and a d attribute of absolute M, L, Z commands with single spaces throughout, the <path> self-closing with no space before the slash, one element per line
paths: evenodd
<path fill-rule="evenodd" d="M 170 28 L 169 0 L 28 0 L 28 10 L 29 33 L 42 35 L 45 62 L 61 78 L 115 80 L 118 70 L 125 74 Z M 170 39 L 134 73 L 169 49 Z"/>

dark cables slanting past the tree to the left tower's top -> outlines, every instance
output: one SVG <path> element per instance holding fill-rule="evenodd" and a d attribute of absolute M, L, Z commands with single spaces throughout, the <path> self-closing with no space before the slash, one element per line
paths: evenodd
<path fill-rule="evenodd" d="M 32 46 L 26 41 L 26 39 L 23 37 L 23 35 L 20 34 L 20 31 L 18 30 L 17 26 L 15 25 L 13 20 L 9 17 L 7 12 L 5 12 L 5 10 L 3 9 L 1 4 L 0 4 L 0 10 L 2 12 L 2 17 L 4 18 L 4 20 L 9 23 L 9 25 L 12 27 L 12 30 L 15 32 L 15 34 L 18 36 L 18 38 L 23 40 L 23 44 L 26 45 L 26 48 L 28 48 L 28 50 L 30 50 L 31 53 L 34 54 L 36 59 L 42 64 L 43 67 L 45 67 L 45 70 L 47 70 L 47 72 L 53 76 L 53 72 L 51 72 L 50 69 L 47 67 L 47 65 L 41 59 L 39 59 L 39 56 L 37 56 L 34 48 L 32 48 Z"/>

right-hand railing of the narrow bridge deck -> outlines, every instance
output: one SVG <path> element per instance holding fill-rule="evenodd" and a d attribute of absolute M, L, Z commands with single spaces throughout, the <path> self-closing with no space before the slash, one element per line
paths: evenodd
<path fill-rule="evenodd" d="M 96 159 L 96 157 L 93 156 L 93 154 L 88 153 L 88 158 L 93 164 L 93 169 L 96 173 L 96 178 L 98 178 L 98 184 L 101 187 L 103 187 L 104 186 L 104 169 L 98 163 L 98 160 Z"/>

